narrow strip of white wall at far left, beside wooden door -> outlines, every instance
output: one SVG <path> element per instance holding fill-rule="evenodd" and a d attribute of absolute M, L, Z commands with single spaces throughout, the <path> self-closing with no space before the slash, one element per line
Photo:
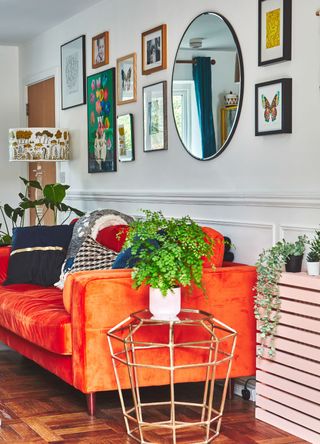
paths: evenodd
<path fill-rule="evenodd" d="M 19 50 L 0 46 L 0 205 L 16 205 L 21 191 L 19 176 L 25 175 L 23 162 L 8 163 L 8 129 L 19 125 Z"/>

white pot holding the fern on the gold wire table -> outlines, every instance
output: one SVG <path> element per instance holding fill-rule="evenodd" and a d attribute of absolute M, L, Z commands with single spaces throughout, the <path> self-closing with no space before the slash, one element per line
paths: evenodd
<path fill-rule="evenodd" d="M 158 288 L 149 290 L 149 310 L 154 319 L 172 321 L 181 310 L 181 288 L 174 288 L 163 296 Z"/>

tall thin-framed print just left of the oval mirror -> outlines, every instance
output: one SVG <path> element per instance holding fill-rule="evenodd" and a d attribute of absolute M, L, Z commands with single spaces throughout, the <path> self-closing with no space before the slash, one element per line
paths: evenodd
<path fill-rule="evenodd" d="M 143 150 L 168 148 L 167 82 L 143 88 Z"/>

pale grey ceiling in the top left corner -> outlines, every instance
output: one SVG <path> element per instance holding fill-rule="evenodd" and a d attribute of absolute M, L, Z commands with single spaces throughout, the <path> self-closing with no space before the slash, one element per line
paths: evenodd
<path fill-rule="evenodd" d="M 0 0 L 0 45 L 20 45 L 101 0 Z"/>

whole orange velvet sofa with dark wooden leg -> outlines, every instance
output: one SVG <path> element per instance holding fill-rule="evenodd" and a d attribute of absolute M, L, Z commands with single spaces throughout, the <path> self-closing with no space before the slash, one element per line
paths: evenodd
<path fill-rule="evenodd" d="M 6 278 L 10 249 L 0 248 L 0 283 Z M 204 268 L 207 295 L 182 289 L 182 306 L 202 309 L 238 331 L 231 378 L 255 374 L 255 267 L 224 263 Z M 0 341 L 32 359 L 87 395 L 94 413 L 95 393 L 115 390 L 106 331 L 129 313 L 148 306 L 148 288 L 132 289 L 131 270 L 79 272 L 64 290 L 30 284 L 0 286 Z M 219 373 L 217 377 L 222 376 Z M 195 372 L 177 382 L 201 380 Z M 152 373 L 144 385 L 165 384 Z M 124 382 L 128 386 L 128 381 Z"/>

